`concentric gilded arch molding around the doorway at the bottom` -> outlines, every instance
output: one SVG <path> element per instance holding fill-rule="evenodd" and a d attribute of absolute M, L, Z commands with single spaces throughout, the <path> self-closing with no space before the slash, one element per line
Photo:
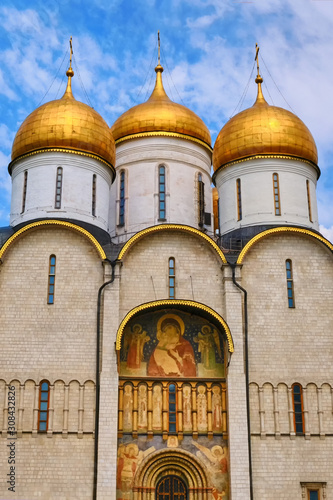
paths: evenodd
<path fill-rule="evenodd" d="M 140 464 L 134 479 L 134 499 L 151 499 L 159 480 L 169 474 L 184 480 L 189 500 L 208 500 L 211 497 L 212 488 L 208 486 L 205 466 L 185 450 L 168 448 L 149 455 Z"/>

